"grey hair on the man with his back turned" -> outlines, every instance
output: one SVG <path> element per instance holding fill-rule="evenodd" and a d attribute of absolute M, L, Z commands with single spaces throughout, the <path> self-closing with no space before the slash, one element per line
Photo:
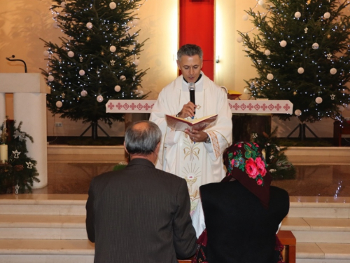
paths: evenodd
<path fill-rule="evenodd" d="M 134 128 L 137 123 L 146 123 L 147 128 Z M 157 124 L 152 121 L 137 121 L 125 131 L 125 148 L 129 154 L 147 156 L 155 151 L 161 137 L 162 132 Z"/>

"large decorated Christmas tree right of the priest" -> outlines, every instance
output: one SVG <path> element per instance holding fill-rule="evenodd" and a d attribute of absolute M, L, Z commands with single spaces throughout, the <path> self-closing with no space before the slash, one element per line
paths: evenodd
<path fill-rule="evenodd" d="M 255 98 L 290 100 L 301 122 L 342 121 L 350 95 L 349 1 L 269 0 L 246 11 L 258 33 L 239 32 L 258 76 L 246 81 Z M 280 119 L 290 115 L 280 114 Z"/>

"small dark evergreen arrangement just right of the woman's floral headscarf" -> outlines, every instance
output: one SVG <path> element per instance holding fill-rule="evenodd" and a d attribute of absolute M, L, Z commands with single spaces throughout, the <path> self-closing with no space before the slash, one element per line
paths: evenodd
<path fill-rule="evenodd" d="M 276 138 L 277 127 L 271 134 L 262 133 L 255 137 L 255 142 L 265 149 L 265 161 L 267 169 L 272 174 L 274 180 L 293 179 L 296 175 L 295 167 L 284 154 L 287 148 L 281 148 Z"/>

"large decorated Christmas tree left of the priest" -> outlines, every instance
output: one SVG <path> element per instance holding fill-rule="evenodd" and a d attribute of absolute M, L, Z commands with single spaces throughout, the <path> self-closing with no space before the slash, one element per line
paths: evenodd
<path fill-rule="evenodd" d="M 109 126 L 123 121 L 123 114 L 107 114 L 108 100 L 137 100 L 141 90 L 139 70 L 139 0 L 54 0 L 50 10 L 55 27 L 66 37 L 62 43 L 45 42 L 48 69 L 42 70 L 51 94 L 52 114 L 92 125 L 97 138 L 98 121 Z"/>

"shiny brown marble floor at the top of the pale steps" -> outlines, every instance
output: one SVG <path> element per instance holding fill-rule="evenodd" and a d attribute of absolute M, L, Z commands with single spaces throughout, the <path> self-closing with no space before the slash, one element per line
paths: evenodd
<path fill-rule="evenodd" d="M 48 162 L 48 186 L 34 194 L 87 194 L 92 177 L 112 170 L 113 162 Z M 274 180 L 290 196 L 350 196 L 350 164 L 295 166 L 293 180 Z"/>

